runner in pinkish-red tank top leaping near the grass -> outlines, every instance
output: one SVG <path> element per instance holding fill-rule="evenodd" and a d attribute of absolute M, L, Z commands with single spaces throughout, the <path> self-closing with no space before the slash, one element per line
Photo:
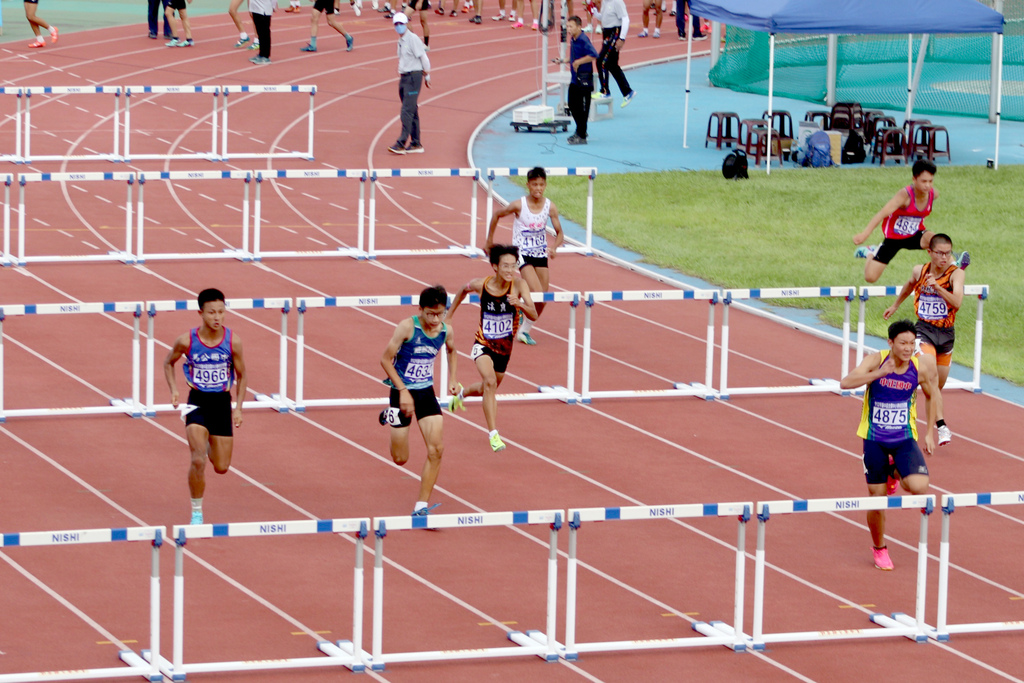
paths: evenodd
<path fill-rule="evenodd" d="M 885 238 L 882 244 L 873 248 L 861 247 L 856 252 L 856 256 L 867 258 L 864 280 L 877 282 L 901 249 L 928 249 L 934 233 L 925 227 L 925 218 L 932 213 L 932 205 L 939 196 L 933 186 L 934 180 L 935 164 L 919 159 L 913 164 L 913 183 L 897 191 L 868 221 L 867 227 L 853 237 L 853 244 L 862 245 L 882 224 Z M 971 255 L 962 252 L 956 265 L 967 268 L 970 263 Z"/>

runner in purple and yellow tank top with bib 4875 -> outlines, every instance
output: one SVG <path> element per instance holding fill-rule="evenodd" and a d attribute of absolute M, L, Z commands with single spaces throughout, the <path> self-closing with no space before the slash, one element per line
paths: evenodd
<path fill-rule="evenodd" d="M 889 350 L 876 351 L 843 378 L 840 386 L 856 389 L 867 385 L 857 436 L 864 439 L 864 476 L 868 496 L 896 492 L 898 475 L 903 488 L 914 496 L 928 493 L 928 465 L 918 446 L 918 386 L 925 392 L 928 426 L 925 428 L 925 454 L 935 452 L 935 419 L 942 411 L 939 374 L 935 358 L 914 356 L 916 327 L 910 321 L 896 321 L 889 326 Z M 893 479 L 892 484 L 887 483 Z M 886 571 L 893 561 L 886 548 L 886 513 L 870 510 L 867 527 L 874 544 L 874 566 Z"/>

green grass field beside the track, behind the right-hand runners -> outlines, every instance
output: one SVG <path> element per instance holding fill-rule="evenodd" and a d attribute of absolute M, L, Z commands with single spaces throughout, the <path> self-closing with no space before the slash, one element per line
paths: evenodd
<path fill-rule="evenodd" d="M 648 263 L 721 287 L 859 286 L 865 284 L 864 261 L 853 258 L 852 238 L 910 180 L 904 167 L 786 169 L 771 176 L 752 171 L 743 181 L 725 180 L 718 171 L 603 175 L 595 181 L 594 232 Z M 971 252 L 968 284 L 991 287 L 982 368 L 1018 385 L 1024 385 L 1024 250 L 1014 237 L 1021 219 L 1014 188 L 1022 181 L 1018 166 L 942 166 L 935 176 L 939 199 L 927 220 L 929 229 L 948 233 L 957 251 Z M 580 224 L 586 182 L 549 179 L 548 196 Z M 876 229 L 868 244 L 881 241 Z M 900 252 L 877 284 L 901 286 L 927 260 L 927 252 Z M 891 302 L 868 302 L 869 334 L 886 336 L 882 311 Z M 904 302 L 897 315 L 913 318 L 912 303 Z M 842 323 L 842 301 L 814 299 L 807 307 L 821 309 L 829 324 Z M 965 365 L 974 356 L 976 308 L 976 298 L 965 298 L 956 318 L 953 359 Z M 856 311 L 854 306 L 854 319 Z"/>

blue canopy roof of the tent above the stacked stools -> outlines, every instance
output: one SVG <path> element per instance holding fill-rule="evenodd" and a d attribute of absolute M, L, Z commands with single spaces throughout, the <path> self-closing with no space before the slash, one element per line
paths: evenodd
<path fill-rule="evenodd" d="M 762 33 L 1002 33 L 978 0 L 690 0 L 697 16 Z"/>

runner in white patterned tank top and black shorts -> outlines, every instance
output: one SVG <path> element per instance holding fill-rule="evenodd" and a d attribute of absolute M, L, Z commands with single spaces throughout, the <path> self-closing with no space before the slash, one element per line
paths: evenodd
<path fill-rule="evenodd" d="M 558 209 L 554 202 L 544 196 L 548 188 L 548 176 L 544 169 L 538 166 L 526 173 L 526 187 L 529 193 L 520 200 L 510 202 L 500 209 L 492 218 L 487 227 L 487 239 L 483 251 L 490 254 L 495 244 L 495 229 L 498 221 L 514 214 L 512 223 L 512 245 L 519 249 L 519 274 L 529 285 L 531 292 L 547 292 L 550 285 L 548 261 L 555 258 L 555 253 L 562 246 L 562 223 L 558 218 Z M 555 231 L 555 240 L 548 244 L 548 221 Z M 537 302 L 537 314 L 544 311 L 544 302 Z M 529 335 L 534 326 L 530 319 L 520 319 L 516 339 L 524 344 L 536 344 Z"/>

